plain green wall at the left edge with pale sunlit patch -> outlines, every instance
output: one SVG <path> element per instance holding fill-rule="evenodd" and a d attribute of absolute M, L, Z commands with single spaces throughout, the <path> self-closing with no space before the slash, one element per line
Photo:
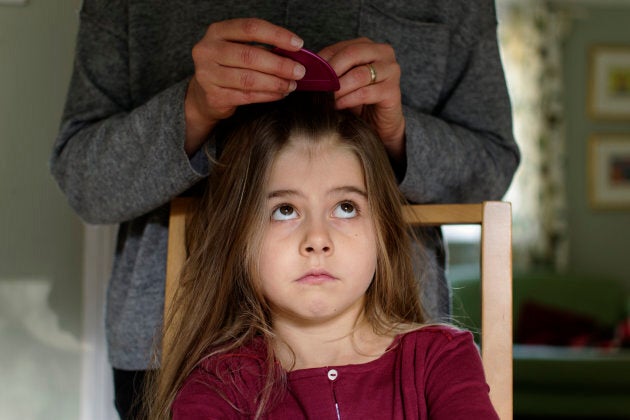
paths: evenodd
<path fill-rule="evenodd" d="M 0 2 L 0 418 L 79 416 L 82 238 L 49 175 L 78 0 Z"/>

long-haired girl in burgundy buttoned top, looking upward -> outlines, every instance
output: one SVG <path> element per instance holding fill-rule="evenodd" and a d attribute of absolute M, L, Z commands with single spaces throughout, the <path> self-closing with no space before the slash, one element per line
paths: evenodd
<path fill-rule="evenodd" d="M 471 335 L 423 325 L 383 144 L 330 95 L 216 129 L 151 418 L 497 418 Z"/>

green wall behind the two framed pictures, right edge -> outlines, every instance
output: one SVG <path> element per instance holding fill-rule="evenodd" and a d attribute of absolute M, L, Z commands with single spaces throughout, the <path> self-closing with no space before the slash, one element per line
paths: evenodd
<path fill-rule="evenodd" d="M 630 4 L 589 2 L 568 8 L 573 14 L 564 48 L 570 270 L 618 279 L 630 290 L 630 209 L 596 211 L 587 189 L 589 136 L 610 132 L 630 136 L 630 119 L 601 122 L 587 114 L 588 51 L 594 44 L 630 47 Z"/>

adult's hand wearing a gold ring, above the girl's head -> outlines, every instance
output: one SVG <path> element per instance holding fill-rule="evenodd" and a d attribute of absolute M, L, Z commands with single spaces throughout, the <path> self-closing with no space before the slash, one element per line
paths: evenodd
<path fill-rule="evenodd" d="M 390 157 L 403 161 L 405 118 L 400 65 L 391 45 L 357 38 L 330 45 L 319 55 L 339 76 L 340 89 L 335 94 L 337 107 L 349 108 L 365 118 L 381 137 Z M 372 80 L 373 74 L 375 80 Z"/>

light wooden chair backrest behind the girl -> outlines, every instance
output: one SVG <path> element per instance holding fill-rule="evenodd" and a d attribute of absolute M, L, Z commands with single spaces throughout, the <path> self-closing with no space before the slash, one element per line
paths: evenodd
<path fill-rule="evenodd" d="M 191 198 L 171 203 L 166 267 L 165 311 L 186 258 L 186 213 Z M 481 226 L 481 358 L 490 399 L 502 420 L 512 419 L 512 210 L 501 201 L 480 204 L 422 204 L 405 208 L 413 226 Z M 162 357 L 171 341 L 164 337 Z"/>

